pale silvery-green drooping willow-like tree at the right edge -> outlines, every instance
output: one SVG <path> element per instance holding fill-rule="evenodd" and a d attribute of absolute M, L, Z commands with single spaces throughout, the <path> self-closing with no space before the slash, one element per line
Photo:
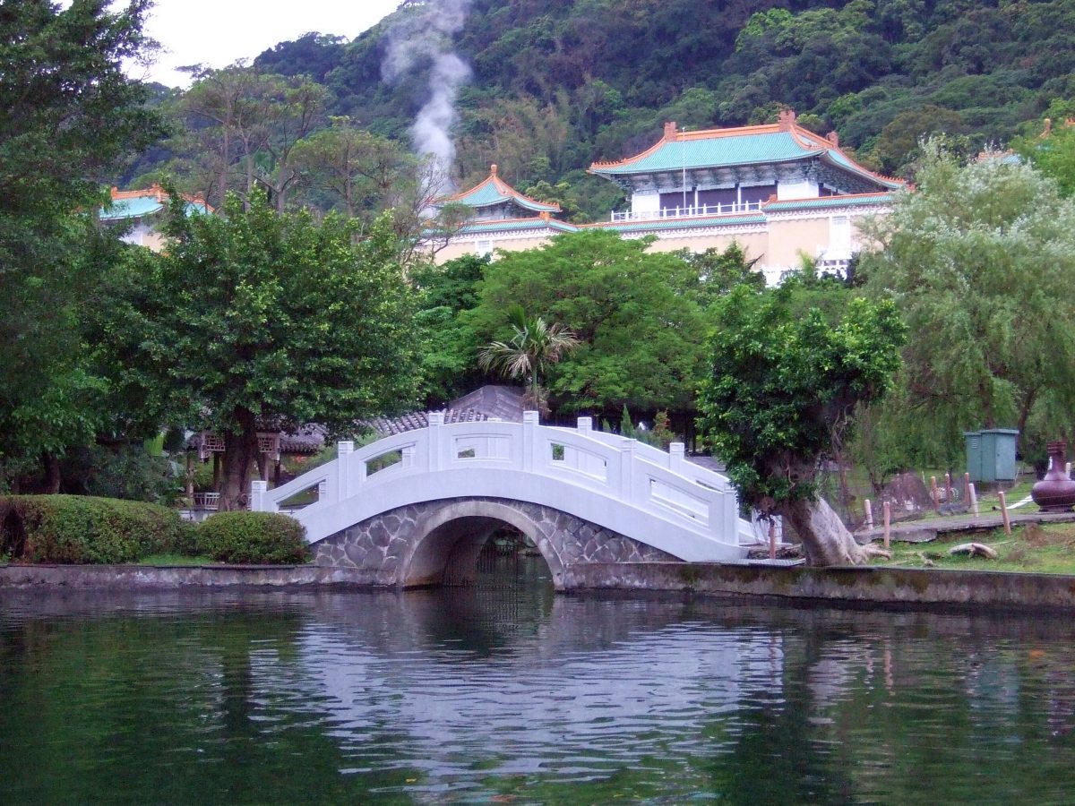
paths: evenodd
<path fill-rule="evenodd" d="M 1075 202 L 1027 164 L 963 164 L 927 148 L 918 189 L 876 222 L 868 289 L 911 328 L 904 406 L 958 455 L 960 431 L 1015 427 L 1075 405 Z M 1049 426 L 1046 426 L 1049 427 Z M 1052 428 L 1067 430 L 1066 421 Z M 941 434 L 936 440 L 931 434 Z"/>

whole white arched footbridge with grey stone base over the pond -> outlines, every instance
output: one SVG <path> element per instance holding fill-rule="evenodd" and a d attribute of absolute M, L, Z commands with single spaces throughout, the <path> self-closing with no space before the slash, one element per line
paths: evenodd
<path fill-rule="evenodd" d="M 385 466 L 385 464 L 387 466 Z M 665 452 L 592 429 L 486 420 L 429 427 L 338 458 L 268 490 L 255 481 L 250 508 L 290 510 L 306 530 L 314 562 L 357 568 L 373 585 L 473 579 L 478 551 L 504 523 L 529 536 L 563 587 L 578 563 L 734 562 L 754 541 L 725 476 L 696 465 L 682 443 Z"/>

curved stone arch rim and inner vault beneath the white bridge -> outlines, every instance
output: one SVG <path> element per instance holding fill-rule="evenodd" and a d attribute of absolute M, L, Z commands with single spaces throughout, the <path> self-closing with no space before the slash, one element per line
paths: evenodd
<path fill-rule="evenodd" d="M 526 514 L 492 501 L 460 501 L 445 506 L 422 528 L 401 575 L 405 588 L 468 585 L 478 573 L 478 556 L 489 538 L 505 526 L 538 547 L 555 588 L 560 589 L 563 564 L 538 524 Z"/>

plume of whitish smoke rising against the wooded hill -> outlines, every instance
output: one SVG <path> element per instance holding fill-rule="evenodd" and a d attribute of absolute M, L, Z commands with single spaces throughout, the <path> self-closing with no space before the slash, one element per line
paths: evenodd
<path fill-rule="evenodd" d="M 429 100 L 418 111 L 411 136 L 415 150 L 431 154 L 447 177 L 456 158 L 452 127 L 457 119 L 456 98 L 471 70 L 452 52 L 452 37 L 463 27 L 471 0 L 429 0 L 388 31 L 388 48 L 381 74 L 391 84 L 418 66 L 430 64 Z"/>

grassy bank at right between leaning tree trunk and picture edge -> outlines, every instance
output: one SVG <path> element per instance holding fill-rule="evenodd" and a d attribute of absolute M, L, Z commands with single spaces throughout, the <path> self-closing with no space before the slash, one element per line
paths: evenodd
<path fill-rule="evenodd" d="M 950 556 L 948 549 L 965 543 L 981 543 L 995 549 L 997 560 L 966 555 Z M 892 559 L 874 560 L 873 565 L 904 568 L 956 568 L 961 571 L 1007 571 L 1024 574 L 1075 574 L 1075 523 L 1028 523 L 985 534 L 962 534 L 930 543 L 892 543 Z"/>

